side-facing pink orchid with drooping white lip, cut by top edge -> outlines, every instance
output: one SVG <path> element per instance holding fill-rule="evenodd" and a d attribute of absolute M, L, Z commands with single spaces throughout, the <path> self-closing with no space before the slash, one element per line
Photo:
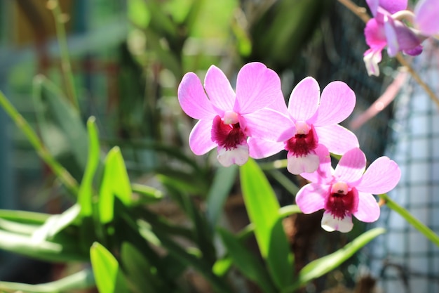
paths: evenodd
<path fill-rule="evenodd" d="M 407 9 L 407 0 L 366 0 L 374 15 L 365 27 L 366 44 L 370 47 L 364 53 L 367 74 L 379 76 L 378 63 L 381 51 L 387 46 L 387 53 L 395 57 L 399 51 L 417 56 L 422 52 L 421 43 L 426 37 L 398 19 L 400 12 Z"/>

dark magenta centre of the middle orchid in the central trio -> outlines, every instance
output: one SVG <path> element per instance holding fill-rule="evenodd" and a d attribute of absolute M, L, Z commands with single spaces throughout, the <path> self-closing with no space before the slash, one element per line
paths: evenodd
<path fill-rule="evenodd" d="M 296 157 L 302 157 L 317 148 L 317 145 L 318 137 L 313 124 L 309 126 L 306 122 L 296 122 L 296 134 L 285 141 L 285 150 Z"/>

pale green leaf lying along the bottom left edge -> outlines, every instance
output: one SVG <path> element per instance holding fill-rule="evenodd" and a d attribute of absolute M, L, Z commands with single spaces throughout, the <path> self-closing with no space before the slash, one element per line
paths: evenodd
<path fill-rule="evenodd" d="M 37 285 L 0 282 L 0 292 L 61 293 L 72 289 L 90 289 L 94 286 L 93 272 L 90 269 L 84 269 L 60 280 Z"/>

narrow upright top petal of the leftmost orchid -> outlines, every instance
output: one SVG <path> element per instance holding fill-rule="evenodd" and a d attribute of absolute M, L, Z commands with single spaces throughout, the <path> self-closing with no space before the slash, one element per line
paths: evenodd
<path fill-rule="evenodd" d="M 229 79 L 218 67 L 212 65 L 205 74 L 204 88 L 210 102 L 222 111 L 232 110 L 235 103 L 235 92 Z M 222 113 L 219 113 L 222 116 Z"/>

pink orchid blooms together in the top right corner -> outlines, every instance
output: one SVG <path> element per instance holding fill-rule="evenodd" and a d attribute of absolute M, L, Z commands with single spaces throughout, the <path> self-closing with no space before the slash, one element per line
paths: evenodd
<path fill-rule="evenodd" d="M 398 52 L 417 56 L 422 52 L 421 43 L 439 34 L 439 5 L 437 0 L 421 0 L 414 13 L 407 10 L 407 0 L 366 0 L 372 15 L 365 27 L 366 44 L 370 47 L 364 53 L 369 75 L 379 75 L 378 63 L 381 51 L 395 57 Z M 407 25 L 407 20 L 413 27 Z"/>

